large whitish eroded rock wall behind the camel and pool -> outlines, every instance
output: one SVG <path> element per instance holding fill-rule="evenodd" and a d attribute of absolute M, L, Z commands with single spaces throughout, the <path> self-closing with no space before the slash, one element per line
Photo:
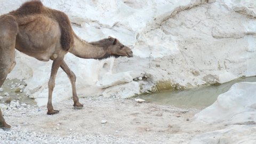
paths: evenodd
<path fill-rule="evenodd" d="M 1 1 L 0 14 L 17 9 L 23 2 Z M 254 1 L 42 2 L 67 13 L 75 33 L 86 41 L 114 36 L 134 52 L 133 58 L 102 61 L 67 54 L 65 60 L 77 75 L 78 94 L 82 96 L 111 95 L 125 83 L 147 92 L 157 91 L 159 82 L 186 89 L 256 75 Z M 9 78 L 26 78 L 25 92 L 40 98 L 37 101 L 46 101 L 50 69 L 51 62 L 34 61 L 17 52 L 17 65 Z M 111 83 L 106 83 L 105 74 L 111 76 Z M 123 79 L 122 74 L 126 75 Z M 140 81 L 131 81 L 139 77 Z M 53 97 L 53 101 L 68 98 L 71 88 L 66 74 L 59 70 L 56 80 L 54 93 L 61 97 Z M 138 93 L 133 87 L 129 90 L 129 95 Z"/>

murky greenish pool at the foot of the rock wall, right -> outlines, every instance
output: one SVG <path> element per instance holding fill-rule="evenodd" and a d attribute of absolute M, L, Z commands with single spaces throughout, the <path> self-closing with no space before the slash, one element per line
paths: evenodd
<path fill-rule="evenodd" d="M 138 95 L 138 98 L 158 105 L 203 109 L 212 105 L 218 95 L 227 92 L 233 84 L 239 82 L 256 82 L 256 76 L 237 78 L 218 86 L 201 86 L 180 91 L 142 94 Z"/>

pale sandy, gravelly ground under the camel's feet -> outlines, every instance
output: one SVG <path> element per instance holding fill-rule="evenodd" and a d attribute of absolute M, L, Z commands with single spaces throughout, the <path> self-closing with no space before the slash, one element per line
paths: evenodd
<path fill-rule="evenodd" d="M 0 130 L 5 135 L 0 143 L 188 143 L 201 133 L 186 130 L 198 109 L 138 103 L 134 99 L 90 97 L 80 101 L 84 108 L 79 110 L 73 108 L 71 99 L 55 103 L 60 113 L 52 116 L 46 115 L 46 106 L 4 110 L 12 129 Z M 34 140 L 27 141 L 27 135 Z"/>

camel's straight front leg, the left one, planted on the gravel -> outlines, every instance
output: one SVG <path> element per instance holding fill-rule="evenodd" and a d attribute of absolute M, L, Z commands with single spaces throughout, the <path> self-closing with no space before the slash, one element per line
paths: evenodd
<path fill-rule="evenodd" d="M 51 70 L 51 76 L 48 82 L 48 89 L 49 89 L 49 94 L 48 94 L 48 103 L 47 103 L 47 115 L 54 115 L 54 114 L 58 114 L 59 110 L 54 110 L 53 106 L 52 106 L 52 92 L 55 86 L 55 78 L 56 78 L 56 74 L 57 71 L 61 65 L 63 61 L 63 58 L 58 58 L 55 59 L 52 63 L 52 70 Z"/>

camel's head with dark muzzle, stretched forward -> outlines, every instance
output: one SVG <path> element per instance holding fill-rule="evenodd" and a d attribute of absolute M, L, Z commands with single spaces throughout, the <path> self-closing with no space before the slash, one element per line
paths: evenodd
<path fill-rule="evenodd" d="M 132 50 L 123 45 L 118 41 L 118 39 L 113 37 L 108 37 L 109 41 L 111 41 L 110 45 L 107 47 L 108 51 L 110 52 L 110 55 L 114 55 L 115 57 L 133 57 Z"/>

